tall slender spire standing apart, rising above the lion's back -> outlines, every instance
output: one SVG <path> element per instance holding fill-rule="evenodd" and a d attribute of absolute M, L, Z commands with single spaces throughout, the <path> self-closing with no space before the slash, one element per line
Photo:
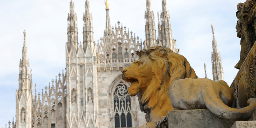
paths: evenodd
<path fill-rule="evenodd" d="M 220 57 L 220 52 L 218 52 L 217 41 L 215 40 L 213 24 L 212 27 L 212 76 L 213 80 L 224 80 L 223 68 Z"/>

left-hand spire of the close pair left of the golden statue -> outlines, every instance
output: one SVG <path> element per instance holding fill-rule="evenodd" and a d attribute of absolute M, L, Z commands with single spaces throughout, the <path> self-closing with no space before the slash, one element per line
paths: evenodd
<path fill-rule="evenodd" d="M 70 2 L 70 13 L 68 14 L 68 28 L 67 28 L 67 47 L 70 52 L 71 47 L 74 45 L 75 51 L 78 50 L 78 32 L 77 32 L 77 17 L 75 13 L 75 5 L 73 0 Z"/>

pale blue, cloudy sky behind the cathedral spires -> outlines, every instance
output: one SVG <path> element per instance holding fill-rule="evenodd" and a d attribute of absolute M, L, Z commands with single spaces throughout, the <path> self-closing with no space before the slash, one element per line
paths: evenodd
<path fill-rule="evenodd" d="M 78 18 L 78 41 L 82 41 L 82 17 L 85 0 L 74 0 Z M 105 29 L 104 0 L 89 0 L 93 17 L 94 41 Z M 214 25 L 218 51 L 222 58 L 224 81 L 231 85 L 238 70 L 240 38 L 237 37 L 235 13 L 239 2 L 245 0 L 166 0 L 170 13 L 172 37 L 176 48 L 185 56 L 198 77 L 212 79 L 212 30 Z M 146 0 L 109 0 L 111 25 L 120 21 L 145 40 L 144 14 Z M 0 0 L 0 127 L 15 117 L 19 61 L 23 47 L 23 31 L 33 84 L 40 92 L 58 73 L 65 69 L 65 42 L 70 0 Z M 157 29 L 157 12 L 161 0 L 151 0 Z M 35 96 L 35 95 L 34 95 Z"/>

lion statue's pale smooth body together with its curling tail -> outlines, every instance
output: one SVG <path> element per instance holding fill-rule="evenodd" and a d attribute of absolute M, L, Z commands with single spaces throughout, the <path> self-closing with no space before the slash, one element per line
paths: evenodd
<path fill-rule="evenodd" d="M 169 96 L 175 110 L 209 109 L 214 115 L 229 120 L 249 118 L 256 110 L 256 99 L 250 98 L 247 107 L 234 107 L 234 95 L 225 81 L 207 78 L 180 79 L 172 82 Z"/>

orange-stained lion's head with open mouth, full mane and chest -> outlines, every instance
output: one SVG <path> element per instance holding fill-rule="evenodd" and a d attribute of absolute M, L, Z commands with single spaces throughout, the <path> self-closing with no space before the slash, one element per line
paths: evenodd
<path fill-rule="evenodd" d="M 136 51 L 139 59 L 122 70 L 124 81 L 130 82 L 130 96 L 138 94 L 141 111 L 147 112 L 149 119 L 154 116 L 166 116 L 167 111 L 173 110 L 168 91 L 170 84 L 177 79 L 197 78 L 185 57 L 174 53 L 170 48 L 161 46 L 150 47 Z M 154 114 L 154 109 L 161 110 Z M 152 117 L 153 116 L 153 117 Z"/>

